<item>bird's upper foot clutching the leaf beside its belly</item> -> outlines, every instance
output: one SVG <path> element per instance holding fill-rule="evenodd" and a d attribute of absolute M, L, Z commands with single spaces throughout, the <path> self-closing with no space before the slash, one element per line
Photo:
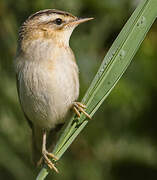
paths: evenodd
<path fill-rule="evenodd" d="M 88 119 L 91 119 L 90 115 L 85 112 L 84 109 L 86 109 L 86 106 L 80 102 L 74 102 L 73 103 L 73 109 L 74 112 L 77 114 L 78 117 L 80 117 L 80 112 L 82 112 Z"/>

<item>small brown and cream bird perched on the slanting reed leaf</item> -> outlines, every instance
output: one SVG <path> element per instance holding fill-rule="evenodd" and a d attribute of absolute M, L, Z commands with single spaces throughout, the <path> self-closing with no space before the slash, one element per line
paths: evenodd
<path fill-rule="evenodd" d="M 77 102 L 79 71 L 69 39 L 75 27 L 92 19 L 46 9 L 29 16 L 19 30 L 14 65 L 20 104 L 32 129 L 33 161 L 43 159 L 56 172 L 50 151 L 71 109 L 90 118 Z"/>

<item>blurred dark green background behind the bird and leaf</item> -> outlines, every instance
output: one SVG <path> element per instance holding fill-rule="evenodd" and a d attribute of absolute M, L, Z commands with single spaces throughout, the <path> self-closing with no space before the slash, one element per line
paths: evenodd
<path fill-rule="evenodd" d="M 132 14 L 135 0 L 0 1 L 0 179 L 33 180 L 31 130 L 19 106 L 13 59 L 18 28 L 40 9 L 95 17 L 73 33 L 83 97 L 101 61 Z M 48 180 L 157 179 L 157 24 L 116 88 L 58 162 Z"/>

